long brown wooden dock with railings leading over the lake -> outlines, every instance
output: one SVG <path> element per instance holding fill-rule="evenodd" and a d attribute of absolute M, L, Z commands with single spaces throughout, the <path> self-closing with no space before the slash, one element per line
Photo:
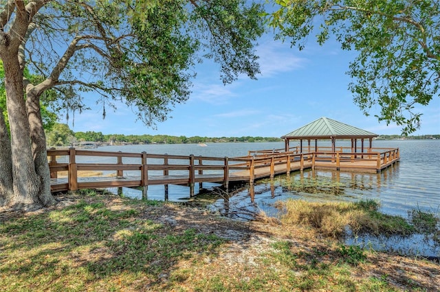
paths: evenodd
<path fill-rule="evenodd" d="M 367 153 L 347 152 L 340 147 L 336 152 L 315 149 L 309 153 L 292 151 L 249 151 L 248 156 L 215 158 L 177 156 L 168 154 L 140 154 L 82 149 L 49 149 L 51 191 L 76 191 L 81 188 L 143 187 L 144 195 L 150 185 L 195 184 L 216 182 L 228 188 L 231 182 L 248 182 L 251 191 L 256 180 L 274 178 L 304 169 L 336 169 L 338 171 L 380 172 L 399 161 L 399 149 L 369 149 Z M 380 150 L 380 151 L 376 151 Z M 100 160 L 100 163 L 90 161 Z M 85 172 L 102 172 L 90 176 Z M 60 173 L 61 172 L 61 173 Z M 64 176 L 62 173 L 67 173 Z M 58 174 L 60 173 L 60 174 Z"/>

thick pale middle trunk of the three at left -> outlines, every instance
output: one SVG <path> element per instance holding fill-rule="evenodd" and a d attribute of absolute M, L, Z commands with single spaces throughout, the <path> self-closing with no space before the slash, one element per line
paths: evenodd
<path fill-rule="evenodd" d="M 17 51 L 2 56 L 5 68 L 6 104 L 11 132 L 12 180 L 11 203 L 19 206 L 39 202 L 41 178 L 36 174 L 30 143 L 30 127 L 23 95 L 23 71 Z M 7 70 L 6 70 L 7 69 Z"/>

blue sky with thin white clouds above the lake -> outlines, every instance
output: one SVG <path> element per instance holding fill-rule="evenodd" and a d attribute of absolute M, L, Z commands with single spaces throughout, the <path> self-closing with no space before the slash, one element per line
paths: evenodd
<path fill-rule="evenodd" d="M 242 76 L 223 86 L 217 64 L 205 60 L 197 65 L 190 99 L 177 104 L 167 121 L 157 123 L 157 130 L 136 122 L 131 109 L 123 104 L 115 111 L 106 108 L 107 117 L 102 119 L 102 107 L 94 104 L 94 97 L 87 97 L 91 110 L 76 114 L 74 125 L 71 118 L 69 127 L 74 132 L 102 134 L 278 137 L 328 117 L 376 134 L 400 134 L 401 127 L 377 121 L 374 114 L 380 111 L 378 106 L 365 117 L 353 103 L 345 72 L 355 52 L 342 51 L 331 41 L 319 46 L 313 37 L 298 51 L 289 42 L 265 36 L 257 53 L 261 64 L 258 80 Z M 440 134 L 439 97 L 419 112 L 423 113 L 421 128 L 413 135 Z"/>

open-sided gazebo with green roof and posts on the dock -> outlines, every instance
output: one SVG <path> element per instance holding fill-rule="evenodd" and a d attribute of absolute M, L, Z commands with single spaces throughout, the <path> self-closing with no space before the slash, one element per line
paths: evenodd
<path fill-rule="evenodd" d="M 303 127 L 300 127 L 281 138 L 285 141 L 285 151 L 290 149 L 291 140 L 300 141 L 300 153 L 303 153 L 303 141 L 308 143 L 308 151 L 310 152 L 310 141 L 315 141 L 315 150 L 318 149 L 318 140 L 331 140 L 331 151 L 336 151 L 336 139 L 351 140 L 351 152 L 356 152 L 358 139 L 360 139 L 362 146 L 361 152 L 364 152 L 364 140 L 369 139 L 369 151 L 371 151 L 373 138 L 377 134 L 362 130 L 352 125 L 347 125 L 339 121 L 335 121 L 326 117 L 321 117 L 316 121 L 312 121 Z"/>

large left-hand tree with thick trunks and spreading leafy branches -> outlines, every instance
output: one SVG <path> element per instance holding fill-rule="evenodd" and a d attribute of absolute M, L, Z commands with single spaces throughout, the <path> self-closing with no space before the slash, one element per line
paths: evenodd
<path fill-rule="evenodd" d="M 95 93 L 103 114 L 115 100 L 146 125 L 186 101 L 194 66 L 211 58 L 229 83 L 259 73 L 261 5 L 244 0 L 7 0 L 0 7 L 0 58 L 11 139 L 0 119 L 0 204 L 52 204 L 39 97 L 81 109 Z M 23 79 L 25 66 L 43 76 Z M 24 81 L 23 81 L 24 80 Z M 25 92 L 26 100 L 23 98 Z M 54 101 L 56 103 L 56 101 Z M 4 149 L 4 151 L 3 151 Z"/>

